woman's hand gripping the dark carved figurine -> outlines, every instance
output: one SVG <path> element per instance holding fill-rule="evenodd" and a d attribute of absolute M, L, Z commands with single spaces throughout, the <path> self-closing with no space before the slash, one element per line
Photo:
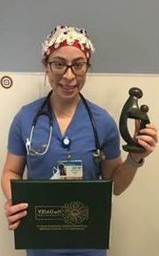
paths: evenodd
<path fill-rule="evenodd" d="M 137 130 L 138 124 L 136 124 Z M 145 148 L 144 153 L 132 153 L 133 159 L 140 161 L 152 153 L 158 142 L 157 139 L 157 130 L 154 124 L 146 124 L 146 127 L 141 129 L 140 132 L 135 132 L 135 140 L 137 143 Z"/>

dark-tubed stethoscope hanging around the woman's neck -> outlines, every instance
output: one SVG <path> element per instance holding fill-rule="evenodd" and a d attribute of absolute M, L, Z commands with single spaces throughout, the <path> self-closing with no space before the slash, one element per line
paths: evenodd
<path fill-rule="evenodd" d="M 51 105 L 50 105 L 51 95 L 52 95 L 52 90 L 46 96 L 45 101 L 41 104 L 38 112 L 36 113 L 35 117 L 33 118 L 33 121 L 32 121 L 32 124 L 31 124 L 30 137 L 26 139 L 26 144 L 25 144 L 28 155 L 32 155 L 32 154 L 34 154 L 34 155 L 44 155 L 45 153 L 47 153 L 47 151 L 49 149 L 49 146 L 51 144 L 52 126 L 53 126 L 53 117 L 52 117 L 52 110 L 51 110 Z M 86 103 L 85 97 L 81 93 L 79 93 L 79 96 L 80 96 L 82 102 L 84 103 L 84 105 L 86 107 L 87 113 L 89 115 L 89 118 L 90 118 L 90 121 L 91 121 L 91 124 L 92 124 L 92 127 L 93 127 L 93 135 L 94 135 L 94 143 L 95 143 L 95 150 L 93 151 L 93 161 L 94 161 L 95 164 L 99 164 L 100 160 L 105 159 L 105 155 L 103 153 L 103 150 L 100 148 L 100 141 L 99 141 L 99 137 L 98 137 L 96 124 L 94 122 L 93 113 L 90 110 L 90 108 L 88 106 L 88 103 Z M 47 107 L 47 110 L 45 110 L 45 106 Z M 46 143 L 44 152 L 38 152 L 38 151 L 31 148 L 31 141 L 32 141 L 34 129 L 35 129 L 35 126 L 37 124 L 38 118 L 40 116 L 48 117 L 49 126 L 50 126 L 49 137 L 48 137 L 48 141 Z M 69 147 L 70 144 L 71 144 L 71 139 L 69 139 L 68 137 L 64 137 L 62 139 L 62 144 L 65 147 Z"/>

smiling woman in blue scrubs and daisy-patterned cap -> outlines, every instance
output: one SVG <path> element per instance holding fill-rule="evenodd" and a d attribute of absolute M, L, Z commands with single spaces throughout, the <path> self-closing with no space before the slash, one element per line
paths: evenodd
<path fill-rule="evenodd" d="M 45 39 L 43 63 L 45 73 L 52 87 L 47 100 L 39 99 L 24 106 L 10 126 L 8 154 L 3 168 L 2 186 L 6 196 L 5 211 L 9 229 L 17 229 L 20 219 L 27 214 L 27 203 L 11 205 L 10 179 L 22 179 L 27 165 L 28 179 L 52 179 L 59 164 L 69 162 L 69 170 L 79 160 L 81 179 L 113 179 L 114 195 L 120 195 L 133 181 L 144 158 L 156 147 L 156 128 L 147 124 L 137 135 L 138 143 L 145 153 L 131 153 L 121 160 L 119 132 L 114 119 L 106 110 L 86 101 L 97 126 L 99 144 L 96 150 L 93 126 L 86 110 L 85 100 L 79 94 L 86 82 L 90 67 L 93 44 L 86 31 L 70 26 L 58 26 Z M 44 103 L 45 101 L 45 103 Z M 44 104 L 43 104 L 44 103 Z M 53 129 L 46 141 L 50 128 L 45 116 L 40 116 L 36 131 L 31 134 L 33 119 L 43 104 L 53 116 Z M 36 136 L 33 134 L 36 133 Z M 31 135 L 30 135 L 31 134 Z M 52 157 L 53 156 L 53 157 Z M 44 172 L 45 169 L 45 172 Z M 67 173 L 67 171 L 66 171 Z M 72 176 L 73 174 L 69 174 Z M 75 178 L 75 177 L 74 177 Z M 29 250 L 28 255 L 106 255 L 105 250 Z M 68 255 L 68 254 L 67 254 Z"/>

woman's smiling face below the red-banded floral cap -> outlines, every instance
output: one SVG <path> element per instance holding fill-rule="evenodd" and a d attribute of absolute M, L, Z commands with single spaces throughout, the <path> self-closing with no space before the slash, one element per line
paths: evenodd
<path fill-rule="evenodd" d="M 87 71 L 86 62 L 85 53 L 74 46 L 62 46 L 50 54 L 46 73 L 54 96 L 73 98 L 78 95 L 86 82 L 86 72 L 83 72 L 83 70 Z M 73 67 L 69 68 L 66 65 L 73 65 Z M 80 72 L 81 69 L 82 72 Z"/>

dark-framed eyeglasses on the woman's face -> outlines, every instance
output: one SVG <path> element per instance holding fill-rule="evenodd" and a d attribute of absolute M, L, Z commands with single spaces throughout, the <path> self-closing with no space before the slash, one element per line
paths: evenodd
<path fill-rule="evenodd" d="M 87 69 L 90 67 L 90 64 L 85 61 L 77 61 L 73 62 L 72 65 L 67 65 L 66 62 L 53 60 L 48 62 L 48 64 L 54 75 L 64 75 L 68 68 L 71 68 L 74 75 L 85 75 Z"/>

